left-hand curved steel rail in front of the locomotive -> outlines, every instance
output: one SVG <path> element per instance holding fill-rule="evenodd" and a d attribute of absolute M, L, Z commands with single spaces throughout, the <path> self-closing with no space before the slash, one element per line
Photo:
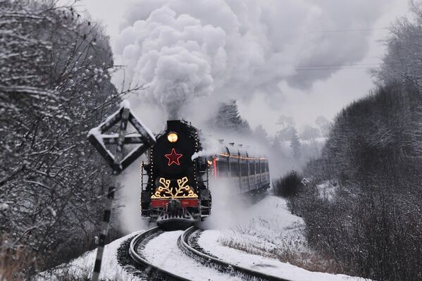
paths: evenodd
<path fill-rule="evenodd" d="M 178 280 L 178 281 L 190 281 L 184 277 L 180 277 L 173 273 L 168 272 L 167 270 L 163 270 L 158 266 L 154 266 L 152 263 L 147 261 L 144 257 L 142 257 L 138 252 L 137 248 L 139 244 L 151 235 L 155 235 L 161 229 L 159 227 L 153 227 L 145 232 L 140 233 L 139 235 L 135 236 L 132 241 L 130 242 L 129 247 L 129 255 L 133 261 L 144 270 L 144 273 L 148 276 L 153 278 L 153 280 Z"/>

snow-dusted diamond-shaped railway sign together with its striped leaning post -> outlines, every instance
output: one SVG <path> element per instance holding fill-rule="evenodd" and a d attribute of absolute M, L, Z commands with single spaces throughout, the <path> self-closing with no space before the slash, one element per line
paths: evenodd
<path fill-rule="evenodd" d="M 104 132 L 110 130 L 111 127 L 120 121 L 118 134 L 103 135 Z M 128 122 L 135 127 L 137 134 L 126 135 Z M 88 133 L 89 142 L 97 149 L 99 154 L 106 160 L 109 166 L 113 168 L 113 175 L 116 175 L 116 182 L 114 186 L 108 187 L 106 207 L 104 209 L 104 216 L 101 223 L 101 233 L 99 235 L 99 242 L 97 248 L 97 258 L 94 263 L 94 271 L 92 273 L 92 281 L 99 280 L 99 273 L 101 271 L 101 261 L 104 253 L 104 245 L 106 244 L 106 237 L 108 233 L 108 225 L 111 217 L 111 207 L 113 206 L 114 192 L 117 187 L 117 175 L 122 173 L 125 168 L 133 163 L 139 156 L 145 153 L 149 147 L 153 146 L 156 142 L 154 135 L 148 130 L 147 127 L 135 118 L 130 112 L 129 102 L 123 101 L 120 104 L 120 109 L 113 113 L 110 117 L 101 123 L 98 127 L 94 127 Z M 117 144 L 116 154 L 111 154 L 106 148 L 106 144 Z M 129 152 L 128 155 L 123 157 L 123 146 L 125 144 L 140 144 L 137 148 Z"/>

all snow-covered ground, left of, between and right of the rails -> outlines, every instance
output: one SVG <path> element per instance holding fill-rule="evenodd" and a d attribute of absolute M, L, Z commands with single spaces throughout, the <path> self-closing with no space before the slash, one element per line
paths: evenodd
<path fill-rule="evenodd" d="M 234 208 L 231 211 L 238 213 L 228 214 L 228 218 L 221 217 L 220 227 L 216 225 L 216 217 L 214 217 L 213 228 L 204 230 L 197 241 L 202 249 L 209 251 L 213 256 L 292 281 L 364 280 L 347 275 L 312 272 L 282 262 L 285 258 L 289 260 L 289 258 L 303 258 L 314 254 L 306 245 L 303 235 L 304 221 L 290 213 L 284 199 L 267 196 L 246 210 L 240 211 L 239 208 Z M 218 216 L 221 216 L 221 213 Z M 229 218 L 230 216 L 232 218 Z M 230 221 L 229 225 L 227 220 Z M 207 225 L 204 224 L 204 226 Z M 137 233 L 139 232 L 106 245 L 101 278 L 137 280 L 137 277 L 125 272 L 119 266 L 116 258 L 120 244 Z M 177 245 L 181 234 L 182 231 L 172 231 L 154 237 L 144 246 L 142 250 L 144 257 L 155 266 L 190 280 L 241 280 L 240 277 L 219 273 L 186 256 Z M 67 270 L 55 270 L 53 275 L 44 273 L 39 280 L 60 280 L 60 275 L 66 271 L 75 277 L 88 277 L 92 274 L 96 252 L 89 251 L 63 266 Z"/>

